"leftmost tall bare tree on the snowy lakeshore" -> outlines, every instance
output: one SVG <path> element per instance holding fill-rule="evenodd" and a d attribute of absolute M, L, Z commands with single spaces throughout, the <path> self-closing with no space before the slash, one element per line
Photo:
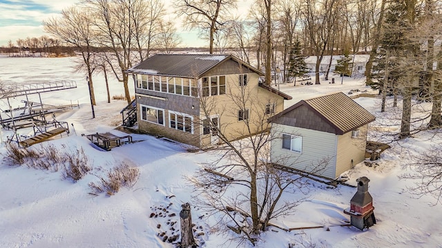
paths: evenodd
<path fill-rule="evenodd" d="M 93 19 L 84 8 L 70 7 L 61 10 L 61 17 L 51 17 L 43 22 L 44 30 L 55 35 L 62 41 L 74 45 L 86 66 L 88 84 L 90 87 L 90 101 L 95 105 L 95 93 L 93 87 L 93 64 L 92 56 L 96 32 L 93 29 Z"/>

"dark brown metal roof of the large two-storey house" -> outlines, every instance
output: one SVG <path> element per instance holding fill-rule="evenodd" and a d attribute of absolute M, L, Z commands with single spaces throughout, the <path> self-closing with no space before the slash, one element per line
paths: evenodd
<path fill-rule="evenodd" d="M 138 65 L 135 65 L 133 68 L 128 69 L 126 72 L 200 78 L 205 72 L 227 59 L 233 59 L 262 75 L 262 72 L 256 68 L 227 54 L 155 54 Z"/>

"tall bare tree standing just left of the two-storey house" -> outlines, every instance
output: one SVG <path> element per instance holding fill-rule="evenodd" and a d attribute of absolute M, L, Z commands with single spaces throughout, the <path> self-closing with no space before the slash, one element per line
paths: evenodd
<path fill-rule="evenodd" d="M 123 83 L 124 96 L 128 103 L 131 103 L 131 94 L 128 89 L 128 74 L 126 70 L 133 66 L 136 59 L 133 52 L 137 51 L 138 61 L 144 59 L 144 55 L 140 48 L 144 45 L 144 41 L 150 42 L 153 34 L 144 36 L 144 31 L 149 27 L 153 27 L 154 23 L 146 21 L 148 15 L 140 10 L 151 10 L 145 8 L 146 1 L 142 0 L 84 0 L 90 14 L 95 19 L 95 26 L 99 30 L 100 45 L 110 48 L 113 54 L 111 61 L 111 69 L 115 78 Z M 153 1 L 151 3 L 157 3 Z M 155 11 L 160 11 L 155 8 Z M 152 10 L 154 11 L 154 10 Z M 152 19 L 150 21 L 160 21 L 160 19 Z M 148 23 L 148 24 L 146 24 Z"/>

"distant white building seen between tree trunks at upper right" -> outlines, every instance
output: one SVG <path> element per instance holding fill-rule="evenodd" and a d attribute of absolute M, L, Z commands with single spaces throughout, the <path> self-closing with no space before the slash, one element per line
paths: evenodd
<path fill-rule="evenodd" d="M 330 65 L 330 72 L 333 72 L 336 68 L 336 64 L 338 63 L 338 59 L 340 59 L 342 55 L 334 55 L 332 57 L 332 64 Z M 365 74 L 365 65 L 369 59 L 369 55 L 367 54 L 356 54 L 354 57 L 350 55 L 353 63 L 353 73 L 352 76 L 363 76 Z M 307 68 L 309 68 L 309 72 L 315 72 L 316 66 L 316 56 L 308 56 L 305 59 L 305 63 L 307 64 Z M 330 56 L 324 56 L 323 60 L 320 62 L 319 72 L 324 73 L 327 72 L 327 68 L 329 67 Z"/>

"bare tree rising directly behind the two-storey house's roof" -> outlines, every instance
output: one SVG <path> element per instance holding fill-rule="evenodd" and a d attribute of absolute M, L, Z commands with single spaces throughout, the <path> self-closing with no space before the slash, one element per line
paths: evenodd
<path fill-rule="evenodd" d="M 209 39 L 209 52 L 213 54 L 215 32 L 229 16 L 229 10 L 236 7 L 237 0 L 175 0 L 176 13 L 184 16 L 184 22 L 189 28 L 200 31 L 201 37 Z M 206 37 L 207 32 L 209 37 Z"/>

